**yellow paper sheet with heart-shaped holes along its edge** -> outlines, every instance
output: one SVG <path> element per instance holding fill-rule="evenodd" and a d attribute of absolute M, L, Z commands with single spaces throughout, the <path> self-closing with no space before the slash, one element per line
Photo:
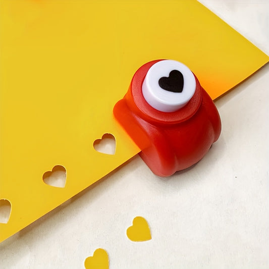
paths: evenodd
<path fill-rule="evenodd" d="M 139 152 L 113 119 L 134 72 L 183 62 L 212 98 L 268 57 L 196 1 L 0 0 L 0 242 Z M 93 141 L 116 137 L 116 154 Z M 64 188 L 42 176 L 67 170 Z"/>

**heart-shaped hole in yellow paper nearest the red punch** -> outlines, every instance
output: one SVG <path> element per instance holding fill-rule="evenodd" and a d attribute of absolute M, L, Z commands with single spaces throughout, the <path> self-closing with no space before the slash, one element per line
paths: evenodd
<path fill-rule="evenodd" d="M 93 147 L 96 151 L 114 155 L 116 152 L 116 139 L 113 134 L 106 133 L 101 139 L 96 139 L 93 142 Z"/>

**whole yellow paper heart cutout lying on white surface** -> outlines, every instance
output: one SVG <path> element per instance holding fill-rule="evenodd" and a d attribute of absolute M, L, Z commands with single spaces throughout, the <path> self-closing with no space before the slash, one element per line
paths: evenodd
<path fill-rule="evenodd" d="M 150 240 L 151 233 L 147 221 L 143 217 L 135 217 L 133 220 L 133 226 L 130 226 L 127 229 L 127 236 L 134 242 Z"/>

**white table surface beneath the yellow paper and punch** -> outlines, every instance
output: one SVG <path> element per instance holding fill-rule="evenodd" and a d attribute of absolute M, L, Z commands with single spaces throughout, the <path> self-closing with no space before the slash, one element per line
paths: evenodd
<path fill-rule="evenodd" d="M 187 0 L 186 0 L 187 1 Z M 268 0 L 200 0 L 269 54 Z M 269 65 L 220 98 L 219 141 L 162 179 L 139 156 L 0 244 L 0 268 L 269 268 Z M 136 216 L 152 240 L 126 236 Z"/>

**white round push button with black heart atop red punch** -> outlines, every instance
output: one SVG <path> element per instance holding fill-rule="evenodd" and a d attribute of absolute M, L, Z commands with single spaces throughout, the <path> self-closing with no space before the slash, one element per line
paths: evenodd
<path fill-rule="evenodd" d="M 154 109 L 175 112 L 188 103 L 195 88 L 195 77 L 187 66 L 174 60 L 163 60 L 149 68 L 142 93 Z"/>

